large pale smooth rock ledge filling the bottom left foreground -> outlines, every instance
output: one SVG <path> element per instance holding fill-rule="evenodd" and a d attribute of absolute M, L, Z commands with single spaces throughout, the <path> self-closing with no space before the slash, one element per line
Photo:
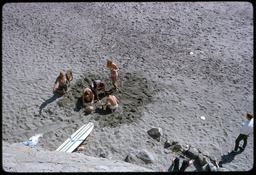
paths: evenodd
<path fill-rule="evenodd" d="M 123 161 L 81 153 L 49 151 L 36 146 L 3 142 L 3 170 L 7 172 L 147 172 Z"/>

